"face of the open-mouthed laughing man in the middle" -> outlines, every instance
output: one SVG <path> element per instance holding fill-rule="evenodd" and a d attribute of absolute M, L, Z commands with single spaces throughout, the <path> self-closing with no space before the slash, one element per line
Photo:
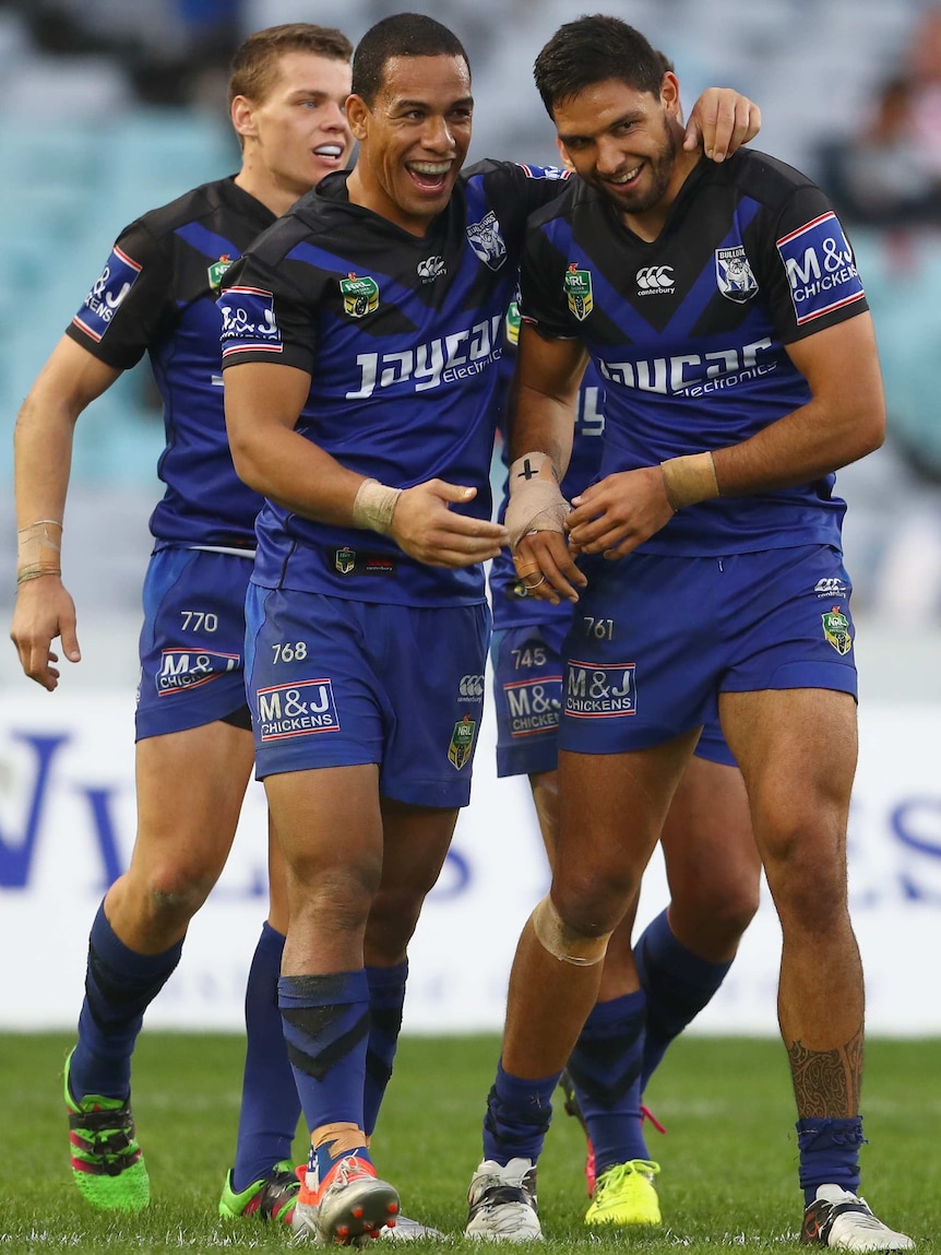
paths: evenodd
<path fill-rule="evenodd" d="M 412 235 L 445 208 L 470 146 L 470 73 L 462 56 L 391 56 L 373 104 L 351 95 L 360 153 L 350 200 Z"/>

